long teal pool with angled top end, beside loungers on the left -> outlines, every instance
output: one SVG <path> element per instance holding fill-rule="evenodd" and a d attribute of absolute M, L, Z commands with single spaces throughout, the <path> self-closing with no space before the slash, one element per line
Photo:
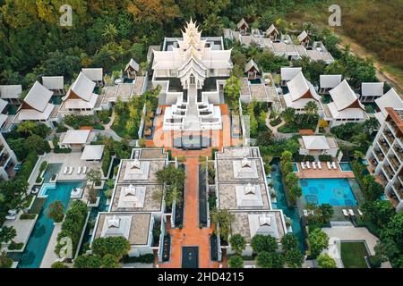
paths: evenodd
<path fill-rule="evenodd" d="M 54 229 L 53 221 L 47 218 L 47 208 L 56 200 L 63 202 L 64 211 L 70 202 L 70 195 L 73 188 L 83 187 L 83 182 L 63 182 L 57 183 L 56 189 L 47 187 L 44 191 L 47 200 L 39 214 L 37 223 L 35 223 L 34 229 L 30 234 L 30 240 L 28 240 L 27 247 L 21 257 L 18 268 L 39 268 L 40 263 L 47 250 L 47 243 L 50 240 L 52 231 Z"/>

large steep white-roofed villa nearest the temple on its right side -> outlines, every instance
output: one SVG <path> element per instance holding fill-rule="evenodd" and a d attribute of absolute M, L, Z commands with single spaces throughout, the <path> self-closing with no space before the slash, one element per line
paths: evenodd
<path fill-rule="evenodd" d="M 302 71 L 293 80 L 287 82 L 288 93 L 283 96 L 284 105 L 303 113 L 305 105 L 313 101 L 321 109 L 321 97 L 316 93 L 311 82 L 305 79 Z"/>

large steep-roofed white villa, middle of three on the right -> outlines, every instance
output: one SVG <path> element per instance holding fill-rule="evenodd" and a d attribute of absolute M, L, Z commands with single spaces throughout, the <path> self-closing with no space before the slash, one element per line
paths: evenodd
<path fill-rule="evenodd" d="M 324 105 L 324 120 L 330 127 L 346 122 L 364 122 L 369 117 L 364 105 L 359 101 L 347 80 L 343 80 L 336 88 L 329 91 L 331 102 Z"/>

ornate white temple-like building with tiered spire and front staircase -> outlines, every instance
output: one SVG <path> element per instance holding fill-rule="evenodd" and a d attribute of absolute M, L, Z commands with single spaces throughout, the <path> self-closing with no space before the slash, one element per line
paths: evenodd
<path fill-rule="evenodd" d="M 152 83 L 165 98 L 164 130 L 221 130 L 222 90 L 232 69 L 223 38 L 202 38 L 191 20 L 183 38 L 165 38 L 154 51 Z"/>

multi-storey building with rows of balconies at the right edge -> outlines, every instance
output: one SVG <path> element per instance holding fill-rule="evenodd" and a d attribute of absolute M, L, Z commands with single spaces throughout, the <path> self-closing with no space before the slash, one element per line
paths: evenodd
<path fill-rule="evenodd" d="M 381 129 L 366 153 L 370 171 L 384 186 L 397 212 L 403 210 L 403 109 L 386 107 Z"/>

